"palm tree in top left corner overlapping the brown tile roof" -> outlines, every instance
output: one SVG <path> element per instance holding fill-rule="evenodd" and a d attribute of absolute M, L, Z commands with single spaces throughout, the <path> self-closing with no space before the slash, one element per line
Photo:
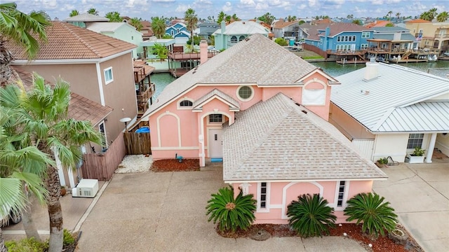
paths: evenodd
<path fill-rule="evenodd" d="M 5 48 L 6 41 L 22 46 L 28 59 L 39 52 L 39 42 L 46 41 L 46 27 L 51 25 L 50 17 L 43 11 L 32 11 L 29 15 L 20 12 L 15 3 L 0 3 L 0 86 L 5 85 L 13 74 L 10 67 L 13 56 Z"/>

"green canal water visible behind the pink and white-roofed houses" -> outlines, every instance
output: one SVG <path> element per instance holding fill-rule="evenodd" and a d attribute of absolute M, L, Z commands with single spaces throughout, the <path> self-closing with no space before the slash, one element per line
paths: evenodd
<path fill-rule="evenodd" d="M 361 69 L 366 64 L 337 64 L 335 62 L 311 62 L 315 66 L 321 67 L 330 76 L 340 76 L 344 73 Z M 431 73 L 436 76 L 447 78 L 446 74 L 449 74 L 449 60 L 438 60 L 437 62 L 417 62 L 417 63 L 402 63 L 401 66 L 408 66 L 413 69 L 417 69 L 423 72 Z M 156 85 L 156 93 L 154 94 L 155 100 L 162 90 L 170 84 L 175 78 L 170 73 L 152 73 L 152 83 Z"/>

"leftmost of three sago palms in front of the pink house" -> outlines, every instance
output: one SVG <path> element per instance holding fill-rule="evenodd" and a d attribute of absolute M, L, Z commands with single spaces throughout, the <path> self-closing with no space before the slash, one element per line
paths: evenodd
<path fill-rule="evenodd" d="M 234 199 L 233 188 L 221 188 L 208 200 L 206 215 L 208 221 L 216 223 L 222 231 L 236 232 L 237 228 L 247 230 L 255 220 L 256 200 L 253 195 L 243 196 L 242 191 Z"/>

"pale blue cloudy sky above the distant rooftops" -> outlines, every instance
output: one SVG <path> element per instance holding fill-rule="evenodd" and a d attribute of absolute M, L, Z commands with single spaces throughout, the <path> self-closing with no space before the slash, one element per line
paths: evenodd
<path fill-rule="evenodd" d="M 0 3 L 5 2 L 9 0 L 0 0 Z M 143 20 L 156 16 L 182 18 L 188 8 L 193 8 L 199 18 L 210 16 L 216 19 L 223 11 L 228 15 L 235 13 L 242 20 L 260 17 L 264 13 L 271 13 L 275 18 L 288 15 L 298 18 L 316 15 L 377 18 L 384 17 L 390 10 L 393 17 L 396 13 L 401 13 L 401 17 L 415 17 L 431 8 L 437 8 L 437 13 L 449 12 L 449 0 L 15 0 L 15 3 L 24 13 L 45 10 L 52 19 L 60 20 L 69 18 L 71 10 L 86 13 L 89 8 L 95 8 L 101 16 L 117 11 Z"/>

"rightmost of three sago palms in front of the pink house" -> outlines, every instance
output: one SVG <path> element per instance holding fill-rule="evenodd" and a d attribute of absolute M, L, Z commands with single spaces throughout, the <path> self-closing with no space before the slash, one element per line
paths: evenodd
<path fill-rule="evenodd" d="M 397 215 L 389 207 L 389 202 L 376 193 L 359 193 L 347 201 L 344 214 L 349 216 L 346 221 L 357 220 L 357 225 L 363 223 L 362 232 L 369 235 L 385 236 L 384 230 L 390 232 L 396 227 Z"/>

